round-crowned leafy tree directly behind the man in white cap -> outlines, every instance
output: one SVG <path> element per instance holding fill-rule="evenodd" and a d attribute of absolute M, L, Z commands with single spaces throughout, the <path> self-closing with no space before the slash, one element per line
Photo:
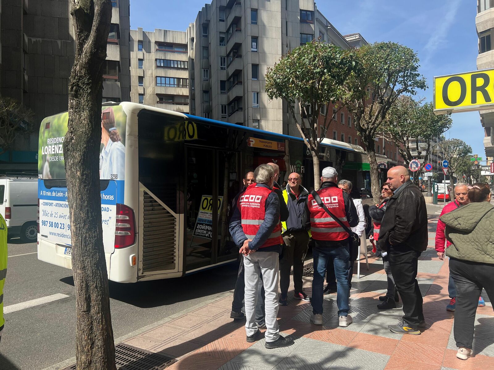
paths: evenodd
<path fill-rule="evenodd" d="M 266 74 L 268 97 L 288 103 L 288 110 L 312 154 L 316 190 L 320 186 L 319 147 L 333 120 L 333 115 L 327 112 L 319 132 L 321 108 L 331 103 L 340 111 L 350 97 L 347 81 L 359 74 L 359 70 L 360 63 L 353 50 L 312 41 L 284 55 Z M 297 113 L 295 105 L 302 114 Z"/>

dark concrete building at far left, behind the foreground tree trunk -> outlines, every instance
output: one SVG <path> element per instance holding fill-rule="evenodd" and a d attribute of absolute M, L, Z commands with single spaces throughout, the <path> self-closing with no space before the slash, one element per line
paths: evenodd
<path fill-rule="evenodd" d="M 35 113 L 35 124 L 68 107 L 75 44 L 68 0 L 1 1 L 0 94 Z M 129 0 L 112 0 L 103 101 L 130 100 Z M 38 132 L 20 135 L 0 157 L 0 174 L 36 171 Z"/>

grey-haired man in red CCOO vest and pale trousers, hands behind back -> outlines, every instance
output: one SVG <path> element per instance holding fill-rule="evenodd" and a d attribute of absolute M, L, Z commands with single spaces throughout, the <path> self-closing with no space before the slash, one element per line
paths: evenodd
<path fill-rule="evenodd" d="M 274 170 L 261 164 L 254 171 L 256 184 L 239 197 L 230 221 L 230 234 L 244 255 L 245 310 L 247 342 L 261 333 L 255 322 L 259 279 L 262 276 L 265 299 L 266 348 L 287 347 L 293 340 L 280 335 L 278 315 L 279 255 L 281 252 L 280 200 L 273 191 Z"/>

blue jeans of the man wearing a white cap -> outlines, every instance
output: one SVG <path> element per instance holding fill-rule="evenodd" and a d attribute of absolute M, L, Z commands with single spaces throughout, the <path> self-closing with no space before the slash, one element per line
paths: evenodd
<path fill-rule="evenodd" d="M 312 248 L 314 258 L 314 277 L 312 279 L 312 312 L 316 314 L 323 313 L 323 286 L 326 275 L 326 266 L 328 259 L 333 260 L 334 274 L 336 275 L 337 294 L 336 303 L 338 305 L 338 316 L 347 316 L 348 294 L 350 287 L 348 285 L 348 270 L 350 259 L 350 249 L 348 241 L 328 242 L 315 240 L 316 245 Z"/>

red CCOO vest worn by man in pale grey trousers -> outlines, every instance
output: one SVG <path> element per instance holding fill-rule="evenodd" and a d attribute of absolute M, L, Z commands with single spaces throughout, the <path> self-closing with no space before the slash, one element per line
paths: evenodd
<path fill-rule="evenodd" d="M 272 192 L 274 191 L 267 187 L 252 184 L 249 185 L 246 191 L 239 197 L 237 207 L 242 215 L 242 229 L 244 230 L 247 239 L 254 239 L 255 234 L 259 231 L 261 223 L 264 222 L 266 199 Z M 280 223 L 278 223 L 266 242 L 259 248 L 281 244 L 283 244 L 283 239 L 281 237 L 281 226 Z"/>

